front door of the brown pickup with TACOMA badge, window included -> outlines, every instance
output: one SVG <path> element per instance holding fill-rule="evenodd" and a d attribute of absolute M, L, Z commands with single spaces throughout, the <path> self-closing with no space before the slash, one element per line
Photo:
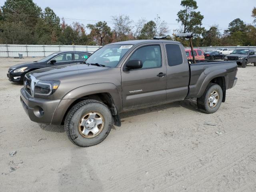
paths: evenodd
<path fill-rule="evenodd" d="M 142 68 L 123 71 L 122 100 L 123 109 L 157 104 L 166 101 L 166 64 L 162 58 L 162 44 L 147 44 L 136 48 L 128 60 L 142 60 Z M 128 61 L 127 60 L 127 61 Z"/>

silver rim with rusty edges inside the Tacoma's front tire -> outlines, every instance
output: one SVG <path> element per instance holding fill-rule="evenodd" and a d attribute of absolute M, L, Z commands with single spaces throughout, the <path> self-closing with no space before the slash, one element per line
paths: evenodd
<path fill-rule="evenodd" d="M 89 112 L 85 114 L 79 124 L 78 130 L 85 138 L 93 138 L 100 134 L 104 127 L 104 118 L 98 112 Z"/>

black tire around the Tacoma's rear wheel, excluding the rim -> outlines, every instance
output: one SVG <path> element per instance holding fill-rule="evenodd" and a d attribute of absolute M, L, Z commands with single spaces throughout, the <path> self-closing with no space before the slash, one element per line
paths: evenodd
<path fill-rule="evenodd" d="M 210 97 L 210 94 L 214 91 L 218 92 L 218 102 L 216 103 L 215 106 L 210 107 L 210 105 L 208 104 L 208 99 Z M 218 84 L 209 83 L 208 86 L 206 87 L 206 90 L 204 91 L 204 94 L 196 100 L 198 109 L 204 113 L 214 113 L 220 108 L 222 97 L 222 88 Z"/>

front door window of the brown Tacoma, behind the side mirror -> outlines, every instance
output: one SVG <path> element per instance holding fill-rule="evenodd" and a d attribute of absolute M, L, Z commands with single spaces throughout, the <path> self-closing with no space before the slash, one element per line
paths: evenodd
<path fill-rule="evenodd" d="M 142 60 L 142 68 L 156 68 L 162 66 L 161 49 L 159 45 L 150 45 L 138 48 L 130 60 Z"/>

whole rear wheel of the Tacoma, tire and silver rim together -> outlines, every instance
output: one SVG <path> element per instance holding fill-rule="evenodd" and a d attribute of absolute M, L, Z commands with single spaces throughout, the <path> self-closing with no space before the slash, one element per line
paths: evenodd
<path fill-rule="evenodd" d="M 210 83 L 204 94 L 196 100 L 198 109 L 204 113 L 214 113 L 220 108 L 222 97 L 222 88 L 218 84 Z"/>

